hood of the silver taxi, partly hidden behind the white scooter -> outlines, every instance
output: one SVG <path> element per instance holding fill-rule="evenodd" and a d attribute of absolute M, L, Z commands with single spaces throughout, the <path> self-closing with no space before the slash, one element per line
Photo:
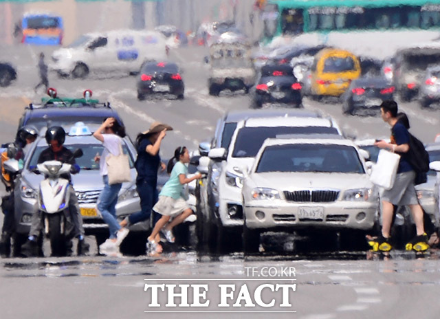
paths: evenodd
<path fill-rule="evenodd" d="M 121 189 L 131 188 L 135 184 L 136 170 L 132 168 L 130 170 L 131 181 L 122 184 Z M 34 190 L 39 188 L 39 183 L 43 180 L 43 175 L 36 175 L 29 171 L 26 171 L 22 175 L 22 179 L 26 184 Z M 79 174 L 72 175 L 72 183 L 76 191 L 87 190 L 102 190 L 104 183 L 102 182 L 102 176 L 99 175 L 99 170 L 81 170 Z"/>

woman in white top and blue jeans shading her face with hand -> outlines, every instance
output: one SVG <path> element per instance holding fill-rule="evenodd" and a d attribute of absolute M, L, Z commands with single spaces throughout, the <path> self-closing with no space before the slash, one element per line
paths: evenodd
<path fill-rule="evenodd" d="M 102 133 L 104 132 L 104 133 Z M 99 246 L 100 254 L 120 256 L 119 246 L 129 234 L 128 228 L 122 228 L 116 219 L 116 203 L 122 183 L 109 184 L 106 157 L 110 154 L 120 155 L 122 137 L 125 137 L 125 128 L 115 118 L 106 118 L 99 129 L 94 132 L 96 140 L 102 142 L 104 151 L 95 157 L 95 162 L 100 162 L 100 175 L 104 181 L 104 188 L 97 201 L 97 208 L 102 219 L 109 225 L 109 239 Z"/>

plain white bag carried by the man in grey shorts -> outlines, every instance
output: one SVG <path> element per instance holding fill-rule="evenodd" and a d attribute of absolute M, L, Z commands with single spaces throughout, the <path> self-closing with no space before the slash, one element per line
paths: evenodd
<path fill-rule="evenodd" d="M 377 163 L 373 166 L 370 180 L 373 184 L 389 190 L 393 188 L 399 167 L 400 155 L 384 149 L 379 151 Z"/>

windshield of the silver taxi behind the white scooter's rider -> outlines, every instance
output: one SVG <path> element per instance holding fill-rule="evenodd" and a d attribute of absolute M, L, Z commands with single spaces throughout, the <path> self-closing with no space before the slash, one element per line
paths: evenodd
<path fill-rule="evenodd" d="M 104 151 L 104 146 L 102 144 L 67 144 L 65 147 L 69 148 L 70 151 L 75 151 L 77 148 L 83 150 L 83 156 L 75 159 L 76 164 L 80 166 L 83 170 L 99 170 L 99 162 L 95 162 L 94 157 L 96 155 L 101 155 Z M 47 146 L 37 146 L 32 157 L 29 161 L 28 167 L 33 167 L 38 164 L 38 160 L 42 151 L 44 151 Z M 129 154 L 126 144 L 122 146 L 124 154 Z M 131 155 L 129 155 L 130 168 L 134 167 L 134 161 Z"/>

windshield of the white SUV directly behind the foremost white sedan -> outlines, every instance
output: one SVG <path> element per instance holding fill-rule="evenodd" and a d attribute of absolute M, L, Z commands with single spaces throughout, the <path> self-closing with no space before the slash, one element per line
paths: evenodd
<path fill-rule="evenodd" d="M 232 157 L 254 157 L 265 139 L 284 134 L 338 134 L 338 130 L 326 126 L 243 127 L 236 135 Z"/>

